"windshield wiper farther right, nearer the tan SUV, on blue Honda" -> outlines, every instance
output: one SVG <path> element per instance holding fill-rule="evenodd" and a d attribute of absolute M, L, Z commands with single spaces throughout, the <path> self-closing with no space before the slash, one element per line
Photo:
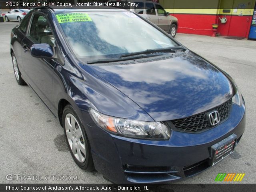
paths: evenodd
<path fill-rule="evenodd" d="M 182 46 L 176 46 L 176 47 L 166 47 L 166 48 L 157 48 L 157 49 L 147 49 L 145 51 L 124 54 L 124 55 L 121 55 L 120 58 L 127 57 L 127 56 L 139 55 L 139 54 L 151 54 L 151 53 L 162 53 L 162 52 L 176 52 L 176 50 L 186 51 L 186 48 L 184 48 Z"/>

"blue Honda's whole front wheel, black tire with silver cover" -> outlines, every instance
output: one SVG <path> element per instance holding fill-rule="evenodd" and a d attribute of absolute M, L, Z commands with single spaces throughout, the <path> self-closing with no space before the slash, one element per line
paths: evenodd
<path fill-rule="evenodd" d="M 78 115 L 71 105 L 63 110 L 62 124 L 71 156 L 83 170 L 94 170 L 88 138 Z"/>

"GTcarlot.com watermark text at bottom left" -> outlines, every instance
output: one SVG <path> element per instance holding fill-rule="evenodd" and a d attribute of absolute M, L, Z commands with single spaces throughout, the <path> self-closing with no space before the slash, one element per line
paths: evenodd
<path fill-rule="evenodd" d="M 22 174 L 7 174 L 5 176 L 6 180 L 21 180 L 21 181 L 77 181 L 77 176 L 73 175 L 61 175 L 61 176 L 56 176 L 56 175 L 46 175 L 46 176 L 41 176 L 41 175 L 22 175 Z"/>

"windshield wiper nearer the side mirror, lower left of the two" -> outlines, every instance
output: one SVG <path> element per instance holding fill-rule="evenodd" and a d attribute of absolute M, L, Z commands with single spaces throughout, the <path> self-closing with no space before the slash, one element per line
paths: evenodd
<path fill-rule="evenodd" d="M 154 56 L 160 56 L 162 54 L 136 54 L 132 56 L 126 56 L 126 57 L 120 57 L 120 58 L 113 58 L 113 59 L 97 59 L 97 60 L 90 60 L 87 62 L 87 64 L 95 64 L 95 63 L 109 63 L 109 62 L 118 62 L 118 61 L 126 61 L 126 60 L 134 60 L 134 59 L 140 59 L 140 58 L 147 58 L 147 57 L 154 57 Z"/>

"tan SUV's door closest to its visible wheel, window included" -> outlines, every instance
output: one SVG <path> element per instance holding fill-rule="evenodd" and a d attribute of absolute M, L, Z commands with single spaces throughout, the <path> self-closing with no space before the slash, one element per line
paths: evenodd
<path fill-rule="evenodd" d="M 156 12 L 157 12 L 157 15 L 158 15 L 158 26 L 168 32 L 169 28 L 170 28 L 170 18 L 169 16 L 166 15 L 166 11 L 164 10 L 164 8 L 159 5 L 159 4 L 155 4 L 156 6 Z"/>

